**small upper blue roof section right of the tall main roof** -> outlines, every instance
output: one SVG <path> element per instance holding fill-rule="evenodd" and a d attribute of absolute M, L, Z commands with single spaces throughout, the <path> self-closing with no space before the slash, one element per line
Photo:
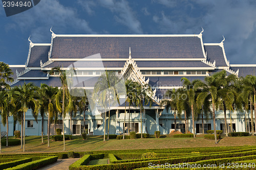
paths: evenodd
<path fill-rule="evenodd" d="M 207 60 L 211 63 L 216 61 L 216 66 L 227 66 L 222 47 L 219 45 L 204 45 L 205 51 L 207 53 Z"/>

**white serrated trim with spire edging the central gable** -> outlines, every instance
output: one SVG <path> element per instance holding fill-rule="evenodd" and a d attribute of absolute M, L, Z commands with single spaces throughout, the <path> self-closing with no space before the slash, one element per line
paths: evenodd
<path fill-rule="evenodd" d="M 135 74 L 137 75 L 139 81 L 142 83 L 142 85 L 148 85 L 148 83 L 150 82 L 150 78 L 148 78 L 147 80 L 145 80 L 145 77 L 141 74 L 141 71 L 139 69 L 139 67 L 137 66 L 136 62 L 132 59 L 131 56 L 131 47 L 130 47 L 130 51 L 129 51 L 129 59 L 124 63 L 123 69 L 121 70 L 121 75 L 124 76 L 125 72 L 127 71 L 127 69 L 129 69 L 129 66 L 132 65 Z M 156 96 L 156 91 L 157 89 L 155 89 L 153 91 L 153 94 L 149 94 L 152 96 L 152 99 L 159 104 L 159 99 Z"/>

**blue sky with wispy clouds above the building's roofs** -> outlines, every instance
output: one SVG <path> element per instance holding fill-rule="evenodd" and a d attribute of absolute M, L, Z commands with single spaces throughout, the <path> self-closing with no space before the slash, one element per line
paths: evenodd
<path fill-rule="evenodd" d="M 41 0 L 6 17 L 0 7 L 0 61 L 25 64 L 30 37 L 51 43 L 55 34 L 199 34 L 223 40 L 230 64 L 256 64 L 256 1 Z"/>

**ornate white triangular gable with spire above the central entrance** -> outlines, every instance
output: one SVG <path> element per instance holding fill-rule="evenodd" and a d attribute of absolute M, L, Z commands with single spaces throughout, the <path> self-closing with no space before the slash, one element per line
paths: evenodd
<path fill-rule="evenodd" d="M 126 62 L 124 63 L 124 67 L 121 70 L 121 74 L 124 79 L 132 80 L 134 82 L 139 82 L 142 85 L 146 85 L 146 84 L 148 84 L 148 82 L 150 82 L 150 78 L 145 80 L 145 77 L 141 74 L 141 71 L 138 68 L 136 62 L 132 59 L 131 47 L 130 47 L 130 52 L 129 52 L 129 59 L 126 60 Z M 153 91 L 152 98 L 157 104 L 159 104 L 160 100 L 155 95 L 156 90 L 157 89 L 155 89 Z M 151 95 L 151 94 L 148 94 L 148 95 Z"/>

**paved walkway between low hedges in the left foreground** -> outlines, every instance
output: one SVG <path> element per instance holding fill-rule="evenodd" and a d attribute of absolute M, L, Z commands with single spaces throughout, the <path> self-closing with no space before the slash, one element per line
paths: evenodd
<path fill-rule="evenodd" d="M 57 162 L 47 165 L 45 167 L 39 168 L 38 170 L 47 170 L 47 169 L 51 169 L 51 170 L 57 170 L 57 169 L 63 169 L 63 170 L 68 170 L 69 169 L 69 165 L 71 165 L 72 163 L 74 163 L 75 161 L 77 161 L 80 158 L 69 158 L 69 159 L 58 159 Z"/>

